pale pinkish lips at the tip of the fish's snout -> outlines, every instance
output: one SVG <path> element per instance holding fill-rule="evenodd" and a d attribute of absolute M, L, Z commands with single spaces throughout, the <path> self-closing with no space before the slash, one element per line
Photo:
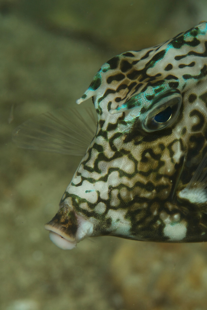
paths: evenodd
<path fill-rule="evenodd" d="M 60 232 L 58 228 L 50 224 L 45 224 L 45 229 L 50 232 L 50 240 L 62 250 L 72 250 L 77 245 L 75 238 L 67 236 L 64 232 Z"/>

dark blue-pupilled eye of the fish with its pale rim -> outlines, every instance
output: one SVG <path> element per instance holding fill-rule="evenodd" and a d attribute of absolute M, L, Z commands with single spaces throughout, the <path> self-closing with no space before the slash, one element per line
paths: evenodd
<path fill-rule="evenodd" d="M 161 130 L 173 124 L 182 104 L 182 95 L 178 90 L 170 90 L 156 96 L 148 111 L 139 117 L 144 131 Z"/>

